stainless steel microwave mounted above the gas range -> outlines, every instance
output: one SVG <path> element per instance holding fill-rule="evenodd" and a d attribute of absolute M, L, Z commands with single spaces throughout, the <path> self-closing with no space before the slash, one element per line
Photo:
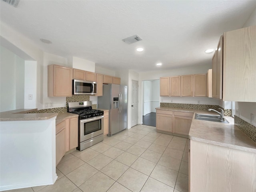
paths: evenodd
<path fill-rule="evenodd" d="M 97 83 L 73 79 L 73 95 L 95 95 L 97 94 Z"/>

